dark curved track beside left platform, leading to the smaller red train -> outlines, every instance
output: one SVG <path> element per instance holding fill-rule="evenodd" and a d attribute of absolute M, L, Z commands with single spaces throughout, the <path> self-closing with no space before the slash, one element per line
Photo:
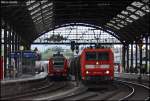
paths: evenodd
<path fill-rule="evenodd" d="M 34 87 L 28 92 L 24 92 L 20 95 L 15 96 L 7 96 L 1 98 L 1 100 L 31 100 L 33 98 L 45 96 L 46 94 L 49 94 L 51 92 L 59 91 L 60 89 L 63 89 L 67 86 L 67 82 L 47 82 L 44 85 L 41 85 L 40 87 Z M 70 87 L 70 86 L 69 86 Z"/>

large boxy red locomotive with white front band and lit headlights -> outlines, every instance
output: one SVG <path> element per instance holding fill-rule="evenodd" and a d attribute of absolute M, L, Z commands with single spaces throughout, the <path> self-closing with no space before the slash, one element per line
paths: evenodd
<path fill-rule="evenodd" d="M 81 79 L 113 81 L 114 55 L 110 48 L 86 48 L 80 55 Z"/>

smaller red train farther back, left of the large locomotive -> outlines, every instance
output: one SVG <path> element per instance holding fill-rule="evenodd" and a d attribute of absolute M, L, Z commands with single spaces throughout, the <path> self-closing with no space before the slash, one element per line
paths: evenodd
<path fill-rule="evenodd" d="M 53 54 L 53 56 L 49 59 L 48 76 L 51 78 L 62 77 L 67 79 L 68 60 L 59 52 L 57 54 Z"/>

